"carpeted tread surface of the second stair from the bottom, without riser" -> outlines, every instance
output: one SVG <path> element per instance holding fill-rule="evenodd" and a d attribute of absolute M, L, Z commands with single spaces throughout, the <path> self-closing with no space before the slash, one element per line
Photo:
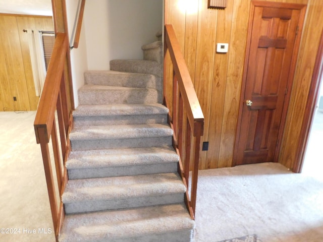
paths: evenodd
<path fill-rule="evenodd" d="M 186 187 L 176 173 L 73 179 L 68 181 L 62 200 L 68 204 L 151 197 L 185 191 Z"/>

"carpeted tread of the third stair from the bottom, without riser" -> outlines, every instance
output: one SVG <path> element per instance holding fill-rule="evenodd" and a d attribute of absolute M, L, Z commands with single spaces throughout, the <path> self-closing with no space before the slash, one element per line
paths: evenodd
<path fill-rule="evenodd" d="M 173 147 L 147 147 L 128 149 L 72 151 L 67 169 L 116 167 L 178 162 Z"/>

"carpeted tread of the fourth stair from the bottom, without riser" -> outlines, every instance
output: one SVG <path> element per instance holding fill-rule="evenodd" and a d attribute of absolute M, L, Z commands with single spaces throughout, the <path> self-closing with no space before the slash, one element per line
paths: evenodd
<path fill-rule="evenodd" d="M 110 125 L 75 127 L 70 140 L 127 139 L 172 136 L 173 130 L 165 124 Z"/>

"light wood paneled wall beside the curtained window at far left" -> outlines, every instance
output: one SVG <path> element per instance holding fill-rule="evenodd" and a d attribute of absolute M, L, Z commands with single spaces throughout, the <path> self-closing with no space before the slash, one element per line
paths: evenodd
<path fill-rule="evenodd" d="M 37 109 L 39 97 L 35 93 L 28 39 L 23 29 L 53 31 L 52 18 L 0 14 L 0 111 Z"/>

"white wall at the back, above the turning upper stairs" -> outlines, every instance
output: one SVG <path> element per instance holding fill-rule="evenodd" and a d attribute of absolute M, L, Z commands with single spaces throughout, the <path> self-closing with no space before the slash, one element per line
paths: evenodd
<path fill-rule="evenodd" d="M 87 1 L 88 69 L 109 70 L 112 59 L 142 59 L 141 46 L 157 40 L 155 34 L 163 28 L 162 21 L 163 0 Z"/>

